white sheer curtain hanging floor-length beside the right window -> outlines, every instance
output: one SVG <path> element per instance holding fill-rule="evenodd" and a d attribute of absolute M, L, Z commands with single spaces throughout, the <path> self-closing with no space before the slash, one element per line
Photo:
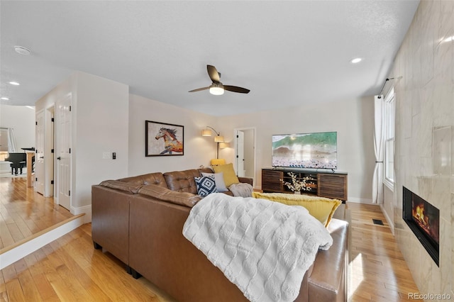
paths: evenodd
<path fill-rule="evenodd" d="M 375 129 L 374 129 L 374 149 L 375 149 L 375 169 L 372 179 L 372 202 L 383 203 L 383 96 L 375 96 Z"/>

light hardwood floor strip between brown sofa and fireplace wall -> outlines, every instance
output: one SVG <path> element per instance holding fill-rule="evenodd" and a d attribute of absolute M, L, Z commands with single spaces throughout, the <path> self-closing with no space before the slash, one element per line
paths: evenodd
<path fill-rule="evenodd" d="M 351 213 L 351 301 L 410 301 L 419 292 L 380 206 L 348 203 Z M 375 225 L 373 219 L 384 225 Z M 412 300 L 414 301 L 414 300 Z"/>

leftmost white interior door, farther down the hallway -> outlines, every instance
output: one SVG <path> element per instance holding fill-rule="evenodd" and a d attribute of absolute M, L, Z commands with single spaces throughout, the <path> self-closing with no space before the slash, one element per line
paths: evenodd
<path fill-rule="evenodd" d="M 35 191 L 44 195 L 44 111 L 36 113 Z"/>

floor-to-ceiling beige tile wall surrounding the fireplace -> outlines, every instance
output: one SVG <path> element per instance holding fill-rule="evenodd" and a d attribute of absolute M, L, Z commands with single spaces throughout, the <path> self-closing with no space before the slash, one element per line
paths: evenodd
<path fill-rule="evenodd" d="M 396 93 L 394 233 L 421 294 L 454 298 L 454 1 L 421 0 L 390 77 Z M 451 37 L 451 38 L 449 38 Z M 440 267 L 402 219 L 405 186 L 440 210 Z"/>

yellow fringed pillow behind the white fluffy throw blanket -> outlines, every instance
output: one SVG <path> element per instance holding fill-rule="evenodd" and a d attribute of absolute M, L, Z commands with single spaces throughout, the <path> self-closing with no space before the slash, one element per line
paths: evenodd
<path fill-rule="evenodd" d="M 337 199 L 284 193 L 253 192 L 253 197 L 277 201 L 289 206 L 304 206 L 309 214 L 317 218 L 325 227 L 328 227 L 336 208 L 342 203 Z"/>

